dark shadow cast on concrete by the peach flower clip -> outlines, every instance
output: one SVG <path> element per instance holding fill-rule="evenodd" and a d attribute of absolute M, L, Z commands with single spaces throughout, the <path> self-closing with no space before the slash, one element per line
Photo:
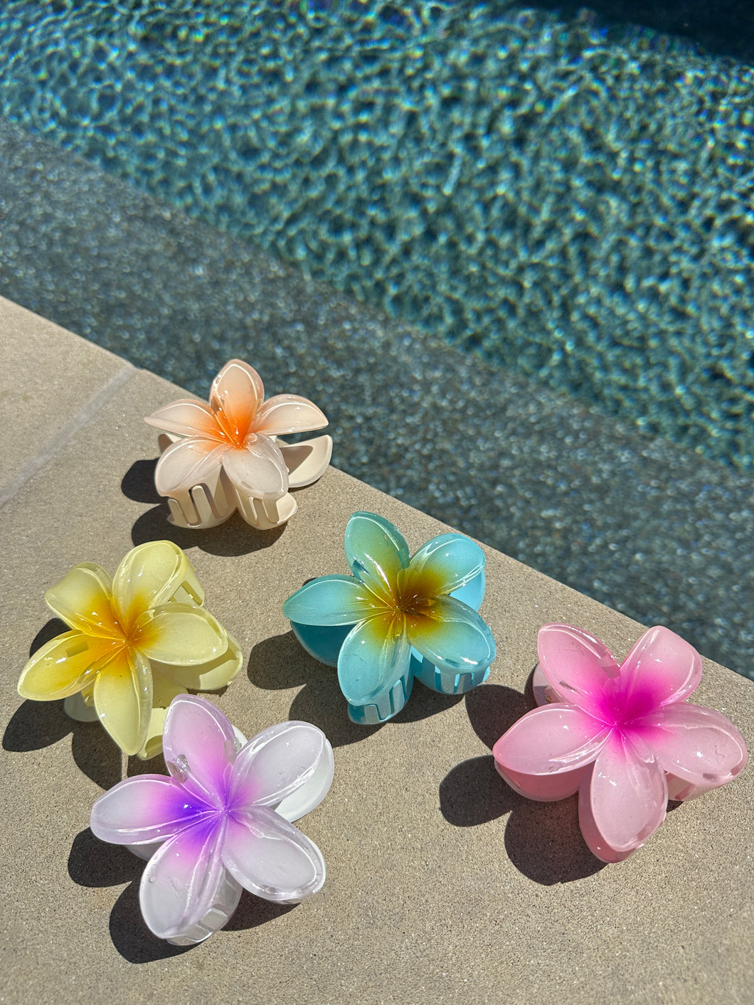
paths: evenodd
<path fill-rule="evenodd" d="M 269 531 L 257 531 L 249 527 L 237 513 L 219 527 L 207 530 L 189 531 L 176 527 L 168 520 L 170 510 L 167 500 L 155 488 L 156 466 L 156 457 L 152 460 L 134 461 L 121 481 L 121 490 L 128 498 L 137 502 L 154 504 L 151 510 L 137 519 L 131 529 L 131 540 L 135 547 L 148 541 L 172 541 L 184 551 L 199 547 L 210 555 L 228 558 L 269 548 L 286 530 L 284 525 Z"/>

